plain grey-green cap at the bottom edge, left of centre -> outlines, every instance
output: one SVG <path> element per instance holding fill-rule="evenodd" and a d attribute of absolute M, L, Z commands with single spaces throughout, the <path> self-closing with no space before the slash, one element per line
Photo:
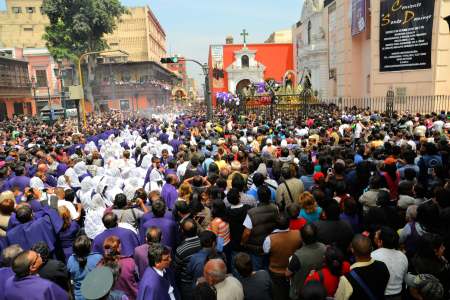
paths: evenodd
<path fill-rule="evenodd" d="M 114 283 L 112 270 L 98 267 L 89 272 L 81 282 L 81 294 L 86 299 L 101 299 L 111 290 Z"/>

